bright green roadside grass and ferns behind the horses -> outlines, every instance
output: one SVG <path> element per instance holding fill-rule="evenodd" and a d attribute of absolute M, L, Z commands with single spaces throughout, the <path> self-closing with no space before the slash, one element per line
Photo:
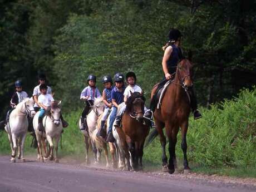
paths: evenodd
<path fill-rule="evenodd" d="M 190 119 L 188 131 L 188 160 L 196 173 L 256 178 L 256 89 L 243 90 L 238 98 L 201 109 L 203 119 Z M 82 159 L 85 152 L 83 137 L 76 125 L 79 112 L 65 116 L 70 126 L 62 136 L 60 155 Z M 36 154 L 31 149 L 32 137 L 27 136 L 25 155 Z M 183 152 L 180 134 L 176 145 L 179 168 Z M 167 149 L 167 145 L 166 145 Z M 0 131 L 0 154 L 9 155 L 7 134 Z M 167 152 L 168 150 L 166 150 Z M 167 152 L 168 154 L 168 152 Z M 161 146 L 157 137 L 144 149 L 147 171 L 161 170 Z"/>

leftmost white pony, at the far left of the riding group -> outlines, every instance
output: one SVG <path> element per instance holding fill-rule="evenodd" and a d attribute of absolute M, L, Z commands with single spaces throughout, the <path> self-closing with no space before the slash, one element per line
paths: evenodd
<path fill-rule="evenodd" d="M 4 127 L 8 134 L 9 142 L 12 149 L 11 162 L 15 162 L 16 150 L 18 146 L 18 159 L 25 162 L 23 157 L 24 142 L 28 130 L 28 120 L 27 115 L 33 117 L 35 115 L 35 110 L 33 105 L 35 104 L 32 98 L 26 98 L 20 102 L 16 108 L 11 112 L 9 120 Z"/>

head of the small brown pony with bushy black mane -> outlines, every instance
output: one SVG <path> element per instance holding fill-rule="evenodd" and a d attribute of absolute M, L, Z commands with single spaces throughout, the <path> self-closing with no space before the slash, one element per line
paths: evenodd
<path fill-rule="evenodd" d="M 130 116 L 138 121 L 143 120 L 145 97 L 139 92 L 131 92 L 131 96 L 127 99 L 126 110 L 130 112 Z"/>

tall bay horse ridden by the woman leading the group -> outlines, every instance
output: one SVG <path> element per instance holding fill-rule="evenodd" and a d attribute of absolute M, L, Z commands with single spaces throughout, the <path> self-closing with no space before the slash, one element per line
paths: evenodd
<path fill-rule="evenodd" d="M 186 133 L 189 125 L 190 99 L 186 90 L 193 85 L 192 67 L 193 65 L 186 58 L 179 62 L 176 68 L 175 78 L 166 88 L 160 109 L 154 111 L 156 130 L 160 135 L 163 152 L 162 165 L 164 172 L 169 171 L 169 173 L 174 173 L 175 169 L 177 169 L 175 146 L 179 128 L 181 128 L 181 149 L 184 155 L 184 173 L 188 173 L 190 170 L 186 156 Z M 151 97 L 154 95 L 155 91 L 156 86 L 151 91 Z M 169 139 L 169 164 L 165 152 L 166 139 L 163 132 L 164 127 L 166 136 L 168 136 Z"/>

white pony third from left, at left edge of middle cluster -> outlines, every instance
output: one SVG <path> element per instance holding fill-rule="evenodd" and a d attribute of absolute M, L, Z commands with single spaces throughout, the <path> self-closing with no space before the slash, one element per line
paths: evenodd
<path fill-rule="evenodd" d="M 96 98 L 94 100 L 94 104 L 92 106 L 92 110 L 89 112 L 89 114 L 86 117 L 87 125 L 88 125 L 88 132 L 87 130 L 80 130 L 84 136 L 85 139 L 85 146 L 86 146 L 86 164 L 90 163 L 89 157 L 88 157 L 88 149 L 89 149 L 89 142 L 91 142 L 92 145 L 92 151 L 94 154 L 94 161 L 97 164 L 99 162 L 100 158 L 100 150 L 97 149 L 95 144 L 95 137 L 93 136 L 93 131 L 97 130 L 97 120 L 99 119 L 99 116 L 104 112 L 105 104 L 101 98 Z M 81 119 L 79 120 L 79 127 L 81 127 Z M 94 138 L 94 139 L 93 139 Z"/>

